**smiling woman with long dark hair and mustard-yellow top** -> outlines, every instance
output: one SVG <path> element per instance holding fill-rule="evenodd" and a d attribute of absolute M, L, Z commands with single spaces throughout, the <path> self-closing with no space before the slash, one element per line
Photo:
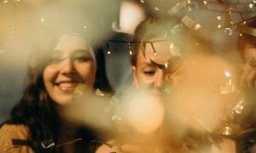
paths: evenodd
<path fill-rule="evenodd" d="M 30 60 L 24 94 L 0 128 L 0 152 L 94 152 L 96 133 L 60 111 L 81 92 L 111 92 L 103 54 L 78 32 L 45 38 Z"/>

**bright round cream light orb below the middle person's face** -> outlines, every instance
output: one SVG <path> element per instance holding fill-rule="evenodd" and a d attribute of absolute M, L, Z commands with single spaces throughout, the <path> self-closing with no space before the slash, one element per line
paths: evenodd
<path fill-rule="evenodd" d="M 139 94 L 128 105 L 128 122 L 138 133 L 153 133 L 164 119 L 164 106 L 153 94 Z"/>

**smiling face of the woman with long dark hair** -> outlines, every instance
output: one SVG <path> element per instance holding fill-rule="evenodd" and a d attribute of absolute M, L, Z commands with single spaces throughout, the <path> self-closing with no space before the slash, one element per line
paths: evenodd
<path fill-rule="evenodd" d="M 92 91 L 96 65 L 89 49 L 82 37 L 62 34 L 59 38 L 51 54 L 53 61 L 43 74 L 46 91 L 56 103 L 67 103 L 80 86 Z"/>

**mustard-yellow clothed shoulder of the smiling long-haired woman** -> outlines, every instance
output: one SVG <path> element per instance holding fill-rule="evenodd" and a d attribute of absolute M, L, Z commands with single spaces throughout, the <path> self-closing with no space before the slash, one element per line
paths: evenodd
<path fill-rule="evenodd" d="M 32 152 L 26 145 L 14 144 L 14 139 L 28 140 L 30 138 L 29 129 L 23 124 L 3 124 L 0 127 L 0 152 Z"/>

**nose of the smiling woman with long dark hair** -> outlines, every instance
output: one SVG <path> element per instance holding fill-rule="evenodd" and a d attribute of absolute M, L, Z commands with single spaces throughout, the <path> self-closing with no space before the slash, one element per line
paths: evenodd
<path fill-rule="evenodd" d="M 62 60 L 60 63 L 60 73 L 63 75 L 71 75 L 75 72 L 73 61 L 70 58 Z"/>

